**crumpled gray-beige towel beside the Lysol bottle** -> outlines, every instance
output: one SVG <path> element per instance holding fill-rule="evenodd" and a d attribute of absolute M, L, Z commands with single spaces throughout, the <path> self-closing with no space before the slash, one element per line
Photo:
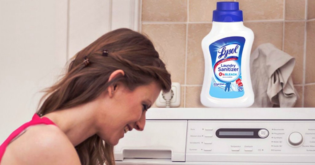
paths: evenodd
<path fill-rule="evenodd" d="M 271 43 L 261 44 L 250 56 L 250 76 L 255 94 L 251 107 L 293 107 L 298 98 L 291 73 L 295 58 Z"/>

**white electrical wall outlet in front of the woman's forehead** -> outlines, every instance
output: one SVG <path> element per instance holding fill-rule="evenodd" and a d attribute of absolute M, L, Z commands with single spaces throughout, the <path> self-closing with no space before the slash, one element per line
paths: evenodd
<path fill-rule="evenodd" d="M 170 100 L 170 107 L 178 107 L 180 106 L 180 83 L 172 83 L 171 90 L 174 93 L 173 98 Z M 157 97 L 157 100 L 155 101 L 155 105 L 157 107 L 165 107 L 166 101 L 163 99 L 162 91 L 160 92 L 159 96 Z"/>

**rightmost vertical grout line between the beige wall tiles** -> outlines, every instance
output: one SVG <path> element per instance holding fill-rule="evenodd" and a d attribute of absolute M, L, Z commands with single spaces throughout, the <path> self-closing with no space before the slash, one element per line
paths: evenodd
<path fill-rule="evenodd" d="M 305 100 L 305 75 L 306 75 L 306 37 L 307 37 L 307 30 L 306 30 L 306 20 L 307 20 L 307 0 L 305 1 L 305 23 L 304 23 L 304 52 L 303 52 L 303 81 L 302 81 L 302 107 L 304 107 L 304 100 Z"/>

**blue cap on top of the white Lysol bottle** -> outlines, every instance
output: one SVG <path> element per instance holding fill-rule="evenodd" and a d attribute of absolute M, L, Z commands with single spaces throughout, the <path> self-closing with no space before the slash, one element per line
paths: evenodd
<path fill-rule="evenodd" d="M 243 21 L 243 11 L 239 9 L 238 2 L 217 2 L 212 21 L 240 22 Z"/>

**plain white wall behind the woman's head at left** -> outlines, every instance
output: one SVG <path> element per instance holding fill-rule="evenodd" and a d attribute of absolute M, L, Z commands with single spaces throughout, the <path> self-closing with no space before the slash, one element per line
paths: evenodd
<path fill-rule="evenodd" d="M 0 143 L 36 112 L 67 59 L 110 30 L 138 30 L 139 0 L 0 0 Z"/>

